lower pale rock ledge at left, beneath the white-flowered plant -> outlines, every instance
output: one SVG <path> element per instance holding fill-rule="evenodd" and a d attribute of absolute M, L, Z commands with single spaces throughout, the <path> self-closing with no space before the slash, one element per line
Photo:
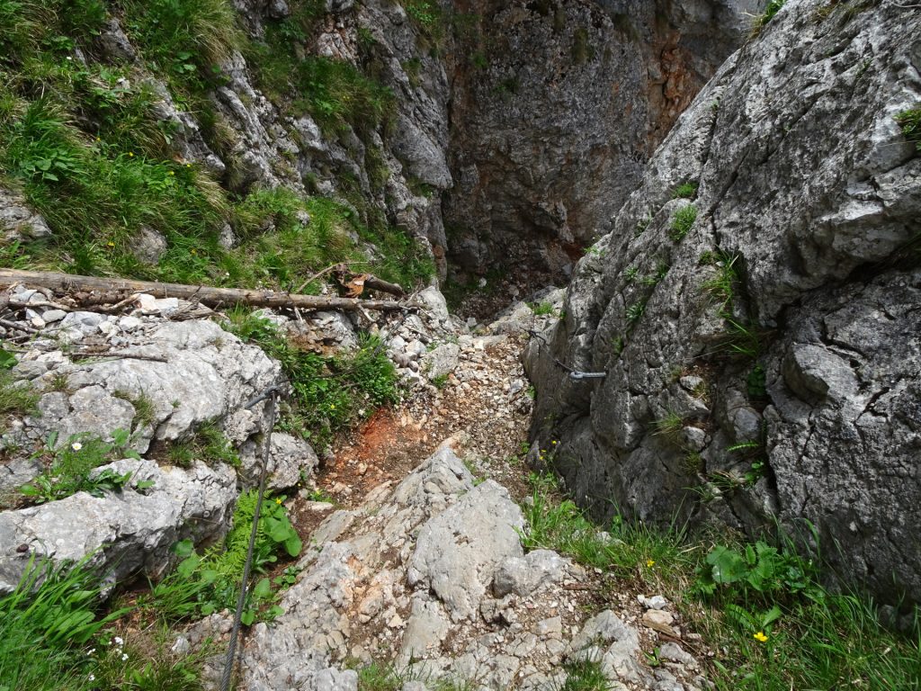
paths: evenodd
<path fill-rule="evenodd" d="M 169 549 L 192 538 L 207 545 L 227 530 L 237 498 L 232 468 L 160 468 L 152 461 L 125 459 L 102 466 L 132 473 L 130 488 L 92 497 L 78 492 L 41 506 L 0 513 L 0 592 L 12 591 L 32 557 L 60 563 L 92 556 L 106 580 L 161 575 Z M 153 486 L 138 491 L 139 481 Z M 24 547 L 23 547 L 24 545 Z"/>

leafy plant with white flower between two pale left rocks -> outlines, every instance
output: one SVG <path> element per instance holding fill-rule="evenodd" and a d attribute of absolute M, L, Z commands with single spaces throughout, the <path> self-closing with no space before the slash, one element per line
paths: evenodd
<path fill-rule="evenodd" d="M 140 460 L 137 451 L 131 448 L 131 433 L 116 429 L 108 442 L 91 434 L 76 434 L 67 439 L 56 451 L 53 450 L 56 435 L 48 440 L 47 449 L 53 453 L 51 467 L 28 485 L 19 487 L 19 492 L 36 504 L 70 497 L 76 492 L 87 492 L 93 497 L 102 497 L 107 492 L 120 492 L 129 485 L 132 473 L 117 473 L 111 468 L 95 473 L 100 465 L 122 458 Z M 135 483 L 139 490 L 152 486 L 150 481 Z"/>

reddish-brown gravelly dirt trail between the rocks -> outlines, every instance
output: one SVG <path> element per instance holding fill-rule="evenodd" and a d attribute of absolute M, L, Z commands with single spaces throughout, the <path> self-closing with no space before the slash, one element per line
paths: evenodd
<path fill-rule="evenodd" d="M 524 464 L 531 411 L 520 354 L 525 336 L 461 336 L 458 365 L 441 389 L 416 389 L 392 410 L 380 410 L 339 439 L 332 462 L 316 478 L 318 494 L 340 508 L 359 506 L 382 483 L 398 483 L 453 438 L 473 474 L 491 477 L 514 498 L 528 491 Z M 304 530 L 328 511 L 298 504 Z"/>

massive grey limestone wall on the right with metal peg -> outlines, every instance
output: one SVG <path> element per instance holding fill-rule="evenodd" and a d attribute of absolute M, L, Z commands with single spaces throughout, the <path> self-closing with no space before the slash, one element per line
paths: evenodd
<path fill-rule="evenodd" d="M 921 600 L 921 158 L 894 119 L 919 69 L 916 13 L 790 2 L 682 114 L 530 344 L 579 500 L 804 545 L 806 519 L 846 580 Z"/>

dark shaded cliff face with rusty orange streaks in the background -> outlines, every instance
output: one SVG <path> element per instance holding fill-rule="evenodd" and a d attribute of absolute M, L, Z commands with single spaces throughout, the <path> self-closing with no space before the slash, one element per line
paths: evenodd
<path fill-rule="evenodd" d="M 456 5 L 476 20 L 452 69 L 451 256 L 472 271 L 520 259 L 561 275 L 610 227 L 757 3 Z"/>

